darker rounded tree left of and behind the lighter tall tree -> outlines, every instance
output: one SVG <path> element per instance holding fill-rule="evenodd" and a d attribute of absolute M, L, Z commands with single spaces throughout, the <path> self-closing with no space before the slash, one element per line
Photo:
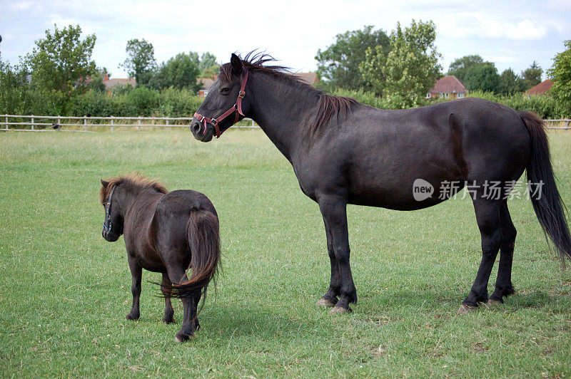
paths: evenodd
<path fill-rule="evenodd" d="M 315 56 L 317 73 L 330 89 L 370 89 L 370 84 L 361 75 L 359 63 L 365 59 L 368 48 L 375 46 L 382 46 L 379 50 L 386 56 L 389 44 L 387 34 L 381 29 L 373 31 L 372 25 L 363 27 L 363 30 L 338 34 L 335 43 L 325 51 L 318 50 Z"/>

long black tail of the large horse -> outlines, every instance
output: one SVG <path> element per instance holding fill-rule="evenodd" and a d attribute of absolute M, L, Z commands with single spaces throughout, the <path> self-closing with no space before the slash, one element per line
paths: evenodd
<path fill-rule="evenodd" d="M 520 112 L 531 138 L 530 160 L 527 162 L 527 180 L 533 210 L 545 236 L 549 236 L 565 267 L 565 256 L 571 259 L 571 237 L 561 195 L 555 185 L 547 134 L 543 122 L 533 113 Z"/>

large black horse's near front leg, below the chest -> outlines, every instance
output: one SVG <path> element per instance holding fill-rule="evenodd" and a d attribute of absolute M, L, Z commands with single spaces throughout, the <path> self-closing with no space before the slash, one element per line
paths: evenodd
<path fill-rule="evenodd" d="M 347 229 L 347 200 L 339 195 L 324 195 L 318 197 L 319 209 L 328 225 L 331 246 L 335 260 L 339 266 L 341 279 L 340 296 L 331 313 L 350 311 L 349 303 L 357 302 L 357 291 L 353 283 L 353 275 L 349 264 L 349 232 Z"/>

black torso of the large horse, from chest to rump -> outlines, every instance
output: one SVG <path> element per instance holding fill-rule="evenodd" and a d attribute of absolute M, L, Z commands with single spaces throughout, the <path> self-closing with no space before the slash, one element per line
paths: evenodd
<path fill-rule="evenodd" d="M 345 122 L 323 131 L 323 140 L 296 173 L 306 193 L 347 187 L 353 204 L 418 209 L 444 198 L 437 193 L 418 202 L 413 197 L 415 180 L 435 189 L 443 182 L 462 187 L 476 179 L 512 180 L 525 168 L 529 145 L 519 113 L 487 100 L 454 100 L 410 110 L 358 105 Z M 308 179 L 308 172 L 317 175 Z"/>

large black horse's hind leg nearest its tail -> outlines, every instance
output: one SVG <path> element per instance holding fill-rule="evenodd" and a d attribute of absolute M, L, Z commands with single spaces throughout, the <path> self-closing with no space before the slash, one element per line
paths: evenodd
<path fill-rule="evenodd" d="M 504 200 L 500 206 L 500 222 L 502 223 L 500 266 L 497 269 L 495 291 L 492 296 L 490 296 L 490 300 L 503 303 L 503 296 L 510 296 L 515 293 L 512 285 L 512 261 L 517 231 L 513 226 L 510 211 L 507 209 L 507 200 Z"/>

